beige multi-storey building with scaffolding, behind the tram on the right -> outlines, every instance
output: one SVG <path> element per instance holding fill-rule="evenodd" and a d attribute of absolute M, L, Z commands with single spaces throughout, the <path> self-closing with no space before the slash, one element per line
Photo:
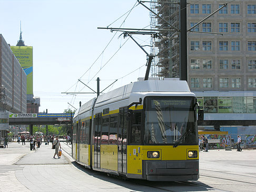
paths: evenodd
<path fill-rule="evenodd" d="M 155 0 L 153 11 L 179 28 L 179 5 Z M 176 1 L 175 1 L 176 2 Z M 187 28 L 227 1 L 189 1 Z M 256 125 L 256 2 L 235 0 L 188 32 L 188 83 L 204 108 L 205 126 Z M 154 28 L 170 29 L 151 15 Z M 203 33 L 201 33 L 203 32 Z M 213 33 L 221 33 L 213 34 Z M 153 75 L 180 77 L 178 32 L 155 43 Z"/>

